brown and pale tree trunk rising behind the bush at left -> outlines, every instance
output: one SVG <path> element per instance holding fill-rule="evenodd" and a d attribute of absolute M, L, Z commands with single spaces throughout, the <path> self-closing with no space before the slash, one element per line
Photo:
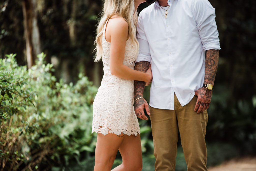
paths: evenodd
<path fill-rule="evenodd" d="M 28 68 L 35 65 L 37 55 L 42 52 L 36 7 L 36 0 L 23 0 L 22 2 Z"/>

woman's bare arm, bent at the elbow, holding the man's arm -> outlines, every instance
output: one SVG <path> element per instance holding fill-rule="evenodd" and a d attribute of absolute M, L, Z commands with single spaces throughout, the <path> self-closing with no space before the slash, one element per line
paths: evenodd
<path fill-rule="evenodd" d="M 126 80 L 151 82 L 152 74 L 136 71 L 123 65 L 125 46 L 128 37 L 128 23 L 123 18 L 116 17 L 109 20 L 108 28 L 106 30 L 106 38 L 107 37 L 111 38 L 111 74 Z"/>

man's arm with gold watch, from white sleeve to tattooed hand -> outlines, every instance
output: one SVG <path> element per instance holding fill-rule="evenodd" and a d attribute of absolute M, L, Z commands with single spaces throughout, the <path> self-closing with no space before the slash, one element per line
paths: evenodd
<path fill-rule="evenodd" d="M 215 9 L 209 1 L 194 1 L 192 8 L 197 23 L 197 29 L 201 38 L 202 47 L 206 51 L 205 57 L 205 80 L 204 84 L 214 85 L 219 61 L 220 40 L 219 32 L 215 22 Z M 200 88 L 195 92 L 198 96 L 195 111 L 200 113 L 209 108 L 212 97 L 212 90 Z"/>

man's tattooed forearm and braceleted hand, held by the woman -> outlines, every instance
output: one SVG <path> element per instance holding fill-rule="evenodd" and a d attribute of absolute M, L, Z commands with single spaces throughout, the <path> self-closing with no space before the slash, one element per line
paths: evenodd
<path fill-rule="evenodd" d="M 149 69 L 150 62 L 141 61 L 135 63 L 134 70 L 146 72 Z M 143 97 L 143 92 L 145 89 L 145 82 L 144 81 L 134 81 L 134 100 Z M 144 113 L 144 108 L 147 111 L 147 114 L 150 115 L 150 110 L 147 101 L 144 98 L 138 99 L 134 102 L 134 109 L 137 117 L 142 120 L 148 120 Z"/>

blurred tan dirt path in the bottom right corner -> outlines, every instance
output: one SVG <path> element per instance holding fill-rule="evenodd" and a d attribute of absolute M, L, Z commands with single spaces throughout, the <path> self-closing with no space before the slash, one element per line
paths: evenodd
<path fill-rule="evenodd" d="M 220 166 L 210 167 L 208 171 L 256 171 L 256 157 L 232 159 Z"/>

